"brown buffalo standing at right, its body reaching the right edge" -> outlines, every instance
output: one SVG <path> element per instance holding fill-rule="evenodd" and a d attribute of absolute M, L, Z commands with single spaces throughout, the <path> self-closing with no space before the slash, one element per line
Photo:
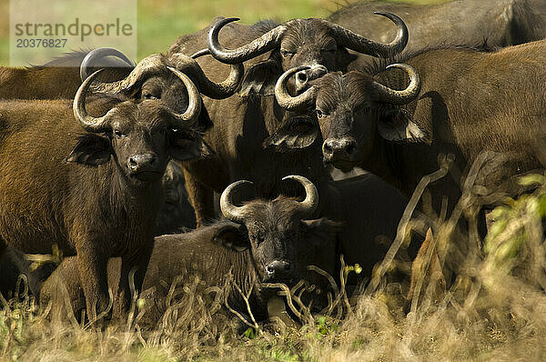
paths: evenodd
<path fill-rule="evenodd" d="M 429 50 L 403 61 L 378 72 L 325 75 L 297 97 L 283 86 L 293 69 L 279 79 L 278 102 L 316 108 L 326 163 L 361 166 L 407 195 L 438 167 L 440 153 L 454 155 L 460 170 L 483 150 L 506 155 L 510 161 L 488 186 L 543 168 L 545 41 L 494 53 Z M 437 210 L 443 196 L 451 205 L 459 199 L 459 181 L 431 186 Z"/>

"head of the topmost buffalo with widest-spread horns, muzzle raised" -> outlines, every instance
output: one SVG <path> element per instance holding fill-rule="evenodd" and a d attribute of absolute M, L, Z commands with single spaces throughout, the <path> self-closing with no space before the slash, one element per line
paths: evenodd
<path fill-rule="evenodd" d="M 308 82 L 312 79 L 329 71 L 346 70 L 347 65 L 355 58 L 354 55 L 349 55 L 348 49 L 381 57 L 396 55 L 404 49 L 408 43 L 408 28 L 404 22 L 394 14 L 375 14 L 388 17 L 398 26 L 398 35 L 390 44 L 371 41 L 324 19 L 308 18 L 290 20 L 248 45 L 228 50 L 219 44 L 218 34 L 223 26 L 238 18 L 227 18 L 219 20 L 211 27 L 208 33 L 208 49 L 217 60 L 227 64 L 240 63 L 272 51 L 268 60 L 248 69 L 241 86 L 242 96 L 272 95 L 278 75 L 294 66 L 308 65 L 308 68 L 298 71 L 291 84 L 298 94 L 308 87 Z"/>

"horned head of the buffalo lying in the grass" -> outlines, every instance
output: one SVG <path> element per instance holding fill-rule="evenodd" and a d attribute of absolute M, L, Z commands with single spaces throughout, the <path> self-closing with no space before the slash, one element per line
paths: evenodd
<path fill-rule="evenodd" d="M 292 284 L 306 277 L 308 264 L 321 264 L 318 254 L 335 255 L 339 226 L 326 218 L 309 219 L 319 205 L 319 194 L 307 178 L 286 176 L 283 180 L 299 182 L 305 188 L 304 200 L 278 196 L 272 201 L 254 199 L 236 206 L 234 195 L 252 185 L 241 180 L 227 186 L 220 208 L 227 219 L 246 226 L 248 236 L 232 247 L 250 249 L 260 280 Z"/>

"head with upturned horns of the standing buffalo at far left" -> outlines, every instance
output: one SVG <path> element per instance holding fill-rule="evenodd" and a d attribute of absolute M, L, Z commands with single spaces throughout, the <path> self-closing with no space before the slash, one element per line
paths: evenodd
<path fill-rule="evenodd" d="M 146 58 L 136 69 L 150 63 L 153 64 Z M 177 113 L 159 99 L 122 98 L 106 115 L 90 116 L 86 110 L 86 93 L 101 71 L 89 76 L 78 89 L 73 106 L 76 120 L 88 133 L 80 138 L 66 160 L 98 166 L 112 157 L 130 184 L 141 185 L 159 180 L 171 157 L 186 160 L 206 156 L 207 146 L 196 131 L 201 112 L 197 86 L 175 68 L 166 67 L 165 71 L 175 75 L 184 87 L 187 109 L 183 113 Z M 119 83 L 124 85 L 127 79 L 130 80 L 130 75 Z M 109 90 L 121 97 L 119 89 L 126 89 L 121 85 Z"/>

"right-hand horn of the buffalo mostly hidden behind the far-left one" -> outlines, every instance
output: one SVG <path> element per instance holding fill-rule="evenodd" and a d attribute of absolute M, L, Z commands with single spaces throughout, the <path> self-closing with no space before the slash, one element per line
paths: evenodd
<path fill-rule="evenodd" d="M 203 55 L 210 55 L 208 49 L 200 50 L 196 54 L 191 55 L 191 57 L 177 53 L 171 55 L 169 61 L 173 65 L 176 65 L 177 69 L 192 77 L 201 94 L 214 99 L 224 99 L 232 96 L 237 91 L 243 79 L 243 75 L 245 74 L 244 66 L 240 63 L 231 65 L 231 71 L 227 75 L 226 80 L 221 83 L 215 83 L 208 79 L 201 66 L 195 61 L 195 58 Z"/>

